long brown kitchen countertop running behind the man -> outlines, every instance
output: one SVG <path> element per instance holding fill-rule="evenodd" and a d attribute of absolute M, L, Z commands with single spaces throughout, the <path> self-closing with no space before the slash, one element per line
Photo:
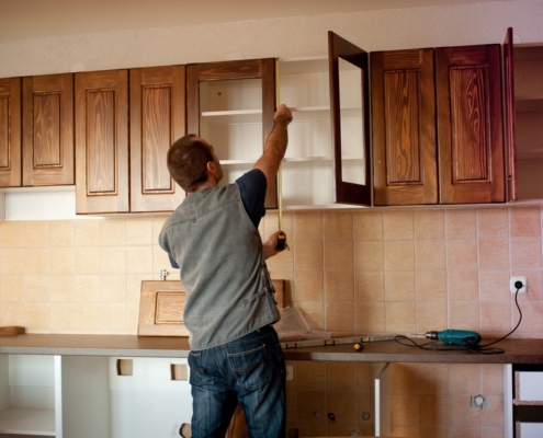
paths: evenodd
<path fill-rule="evenodd" d="M 488 341 L 489 342 L 489 341 Z M 483 339 L 483 344 L 487 341 Z M 442 345 L 442 344 L 439 344 Z M 493 347 L 497 355 L 407 347 L 395 341 L 364 343 L 358 351 L 352 344 L 283 349 L 286 360 L 340 360 L 366 362 L 449 362 L 449 364 L 543 364 L 543 339 L 505 339 Z M 186 337 L 136 335 L 21 334 L 0 337 L 0 354 L 176 357 L 189 356 Z"/>

